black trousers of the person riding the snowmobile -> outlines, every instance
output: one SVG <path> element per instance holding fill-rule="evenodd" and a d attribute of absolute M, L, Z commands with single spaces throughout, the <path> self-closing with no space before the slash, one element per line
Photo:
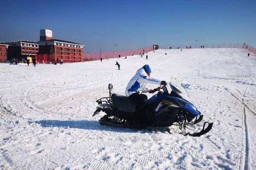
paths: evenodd
<path fill-rule="evenodd" d="M 144 101 L 145 99 L 148 99 L 148 96 L 145 94 L 134 93 L 131 94 L 128 99 L 131 99 L 136 104 L 136 115 L 141 119 L 141 116 L 143 115 L 141 112 L 143 112 Z"/>

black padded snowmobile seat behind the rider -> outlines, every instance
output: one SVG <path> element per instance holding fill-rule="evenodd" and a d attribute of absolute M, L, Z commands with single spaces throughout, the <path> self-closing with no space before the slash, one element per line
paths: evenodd
<path fill-rule="evenodd" d="M 112 94 L 111 99 L 113 101 L 114 108 L 118 111 L 134 113 L 136 111 L 136 105 L 126 96 L 120 94 Z"/>

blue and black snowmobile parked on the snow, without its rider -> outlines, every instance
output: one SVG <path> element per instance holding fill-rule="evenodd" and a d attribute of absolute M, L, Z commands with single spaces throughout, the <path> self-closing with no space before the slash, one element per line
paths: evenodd
<path fill-rule="evenodd" d="M 181 92 L 175 86 L 171 83 L 169 86 L 172 89 L 171 93 L 168 92 L 167 85 L 160 85 L 152 90 L 151 93 L 157 92 L 157 94 L 148 100 L 145 99 L 143 111 L 138 116 L 135 103 L 126 96 L 112 94 L 113 85 L 109 84 L 109 96 L 96 101 L 99 106 L 93 116 L 100 111 L 105 112 L 99 123 L 107 126 L 169 127 L 176 122 L 184 136 L 201 136 L 208 133 L 213 123 L 204 122 L 203 129 L 198 133 L 186 132 L 186 126 L 198 124 L 203 119 L 203 115 L 191 102 L 183 99 Z"/>

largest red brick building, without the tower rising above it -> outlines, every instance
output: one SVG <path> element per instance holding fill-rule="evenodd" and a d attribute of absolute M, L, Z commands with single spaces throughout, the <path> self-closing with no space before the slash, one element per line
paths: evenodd
<path fill-rule="evenodd" d="M 84 58 L 83 48 L 84 45 L 76 42 L 51 39 L 39 41 L 38 54 L 50 54 L 48 60 L 51 61 L 63 59 L 64 62 L 79 62 Z"/>

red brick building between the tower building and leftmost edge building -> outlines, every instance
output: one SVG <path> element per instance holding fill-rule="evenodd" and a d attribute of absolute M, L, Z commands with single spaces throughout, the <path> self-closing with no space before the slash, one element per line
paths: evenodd
<path fill-rule="evenodd" d="M 9 45 L 7 50 L 8 59 L 17 58 L 26 59 L 26 57 L 34 57 L 38 54 L 39 46 L 38 42 L 35 41 L 15 41 L 7 42 Z"/>

